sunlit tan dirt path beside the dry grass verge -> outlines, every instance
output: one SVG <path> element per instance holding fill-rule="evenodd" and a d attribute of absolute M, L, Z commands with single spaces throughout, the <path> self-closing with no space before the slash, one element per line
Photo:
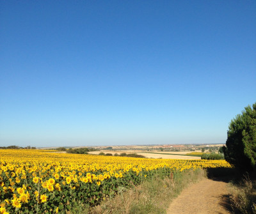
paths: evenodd
<path fill-rule="evenodd" d="M 204 178 L 192 184 L 172 201 L 167 214 L 230 214 L 225 209 L 227 183 Z"/>

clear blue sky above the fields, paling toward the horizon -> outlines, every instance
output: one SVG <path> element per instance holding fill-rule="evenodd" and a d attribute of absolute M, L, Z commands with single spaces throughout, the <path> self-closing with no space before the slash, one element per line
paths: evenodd
<path fill-rule="evenodd" d="M 0 146 L 225 143 L 256 101 L 256 1 L 1 1 Z"/>

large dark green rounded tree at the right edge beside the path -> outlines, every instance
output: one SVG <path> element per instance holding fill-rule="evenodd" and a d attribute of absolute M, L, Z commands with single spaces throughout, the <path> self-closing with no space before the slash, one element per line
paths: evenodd
<path fill-rule="evenodd" d="M 256 161 L 256 103 L 244 108 L 228 126 L 225 159 L 245 170 L 255 168 Z"/>

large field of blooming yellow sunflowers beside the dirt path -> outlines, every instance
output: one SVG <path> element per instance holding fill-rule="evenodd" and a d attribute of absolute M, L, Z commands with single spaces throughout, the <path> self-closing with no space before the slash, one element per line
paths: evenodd
<path fill-rule="evenodd" d="M 122 187 L 182 171 L 231 167 L 225 160 L 178 160 L 0 150 L 0 213 L 66 213 L 94 206 Z"/>

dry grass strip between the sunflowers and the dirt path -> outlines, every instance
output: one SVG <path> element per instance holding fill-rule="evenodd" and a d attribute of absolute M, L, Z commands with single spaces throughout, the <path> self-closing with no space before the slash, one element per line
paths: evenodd
<path fill-rule="evenodd" d="M 168 178 L 157 176 L 138 187 L 122 188 L 115 198 L 106 199 L 99 206 L 84 210 L 90 214 L 146 214 L 166 213 L 173 198 L 180 194 L 189 183 L 205 177 L 205 171 L 198 169 L 173 175 Z"/>

